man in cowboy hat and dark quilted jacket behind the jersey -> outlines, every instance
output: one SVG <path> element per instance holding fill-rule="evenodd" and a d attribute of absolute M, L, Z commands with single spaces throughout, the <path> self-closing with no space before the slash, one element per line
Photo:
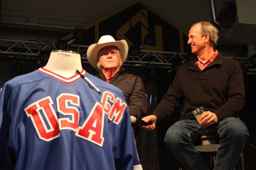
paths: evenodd
<path fill-rule="evenodd" d="M 97 44 L 88 48 L 87 59 L 97 69 L 96 77 L 122 90 L 130 114 L 140 120 L 147 113 L 148 100 L 142 79 L 121 68 L 127 54 L 128 44 L 125 40 L 115 41 L 112 36 L 103 35 Z"/>

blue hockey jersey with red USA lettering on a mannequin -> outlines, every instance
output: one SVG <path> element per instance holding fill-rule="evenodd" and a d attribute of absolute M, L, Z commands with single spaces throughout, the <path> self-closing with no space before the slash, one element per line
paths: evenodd
<path fill-rule="evenodd" d="M 0 169 L 142 169 L 122 92 L 40 68 L 0 94 Z"/>

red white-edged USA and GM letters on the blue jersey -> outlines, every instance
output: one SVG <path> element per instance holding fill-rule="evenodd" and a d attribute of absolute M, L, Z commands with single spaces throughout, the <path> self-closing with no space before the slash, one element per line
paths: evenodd
<path fill-rule="evenodd" d="M 68 103 L 70 103 L 69 106 Z M 53 108 L 53 100 L 50 96 L 42 98 L 30 104 L 24 109 L 26 115 L 31 118 L 40 139 L 51 141 L 60 136 L 60 130 L 70 129 L 75 135 L 99 146 L 103 146 L 104 117 L 115 124 L 119 124 L 127 104 L 122 102 L 113 93 L 103 92 L 101 103 L 96 102 L 89 116 L 82 126 L 78 126 L 80 113 L 79 96 L 70 93 L 62 93 L 56 98 L 57 111 L 70 117 L 58 118 Z M 83 120 L 81 120 L 83 121 Z"/>

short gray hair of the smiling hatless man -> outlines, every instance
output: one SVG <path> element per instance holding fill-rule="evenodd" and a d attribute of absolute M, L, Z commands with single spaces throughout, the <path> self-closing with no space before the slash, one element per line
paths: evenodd
<path fill-rule="evenodd" d="M 194 25 L 197 25 L 197 24 L 201 24 L 201 35 L 202 35 L 202 37 L 206 33 L 209 33 L 210 34 L 210 46 L 215 47 L 217 45 L 217 40 L 218 40 L 218 37 L 219 37 L 218 29 L 208 21 L 200 21 L 200 22 L 194 23 L 191 27 L 193 27 Z"/>

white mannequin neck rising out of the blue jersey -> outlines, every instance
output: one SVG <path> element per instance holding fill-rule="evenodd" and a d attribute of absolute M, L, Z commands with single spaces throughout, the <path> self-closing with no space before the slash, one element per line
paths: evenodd
<path fill-rule="evenodd" d="M 81 56 L 69 51 L 53 51 L 44 69 L 62 77 L 70 78 L 76 74 L 76 70 L 82 70 Z"/>

